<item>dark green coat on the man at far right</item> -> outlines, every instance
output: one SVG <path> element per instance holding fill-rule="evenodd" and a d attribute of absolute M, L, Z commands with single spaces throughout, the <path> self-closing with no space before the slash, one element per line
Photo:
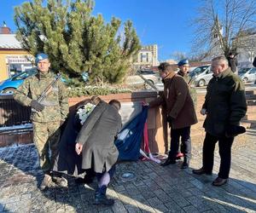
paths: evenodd
<path fill-rule="evenodd" d="M 207 109 L 203 126 L 211 135 L 224 136 L 229 124 L 239 125 L 246 115 L 247 101 L 241 79 L 230 68 L 210 80 L 202 108 Z"/>

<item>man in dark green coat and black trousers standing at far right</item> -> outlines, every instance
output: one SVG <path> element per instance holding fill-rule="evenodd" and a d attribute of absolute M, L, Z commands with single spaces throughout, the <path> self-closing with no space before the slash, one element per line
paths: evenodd
<path fill-rule="evenodd" d="M 206 100 L 201 114 L 207 115 L 204 122 L 206 137 L 203 144 L 202 167 L 193 170 L 197 175 L 212 175 L 215 144 L 218 142 L 220 167 L 213 186 L 224 185 L 230 175 L 231 147 L 234 137 L 245 132 L 239 126 L 246 115 L 247 101 L 241 79 L 231 71 L 224 56 L 212 59 L 213 77 L 207 86 Z"/>

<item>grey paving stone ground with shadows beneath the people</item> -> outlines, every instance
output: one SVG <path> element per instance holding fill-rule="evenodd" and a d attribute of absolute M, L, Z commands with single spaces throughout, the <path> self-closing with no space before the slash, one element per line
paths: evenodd
<path fill-rule="evenodd" d="M 96 181 L 76 185 L 70 177 L 68 188 L 41 192 L 43 173 L 35 147 L 0 148 L 0 212 L 256 212 L 256 133 L 236 138 L 230 181 L 223 187 L 211 185 L 218 174 L 218 146 L 213 176 L 191 172 L 201 167 L 201 141 L 193 144 L 188 170 L 180 169 L 182 162 L 165 168 L 141 160 L 118 164 L 107 193 L 115 199 L 113 207 L 91 204 Z M 125 181 L 125 172 L 136 176 Z"/>

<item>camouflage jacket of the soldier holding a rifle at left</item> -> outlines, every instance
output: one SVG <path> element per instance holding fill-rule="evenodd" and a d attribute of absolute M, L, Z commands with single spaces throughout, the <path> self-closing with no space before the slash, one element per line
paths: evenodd
<path fill-rule="evenodd" d="M 15 101 L 24 106 L 31 106 L 31 101 L 38 100 L 38 97 L 54 79 L 55 75 L 52 72 L 46 74 L 39 72 L 32 77 L 26 78 L 24 83 L 15 91 Z M 65 85 L 58 80 L 41 104 L 44 105 L 44 110 L 42 112 L 32 111 L 32 121 L 44 123 L 65 120 L 68 113 Z"/>

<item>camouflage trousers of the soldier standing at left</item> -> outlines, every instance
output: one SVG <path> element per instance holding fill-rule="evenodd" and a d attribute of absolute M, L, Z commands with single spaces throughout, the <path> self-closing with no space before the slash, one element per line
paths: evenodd
<path fill-rule="evenodd" d="M 60 121 L 47 123 L 33 122 L 33 140 L 38 149 L 40 167 L 44 173 L 52 170 L 53 163 L 58 154 L 60 137 Z"/>

